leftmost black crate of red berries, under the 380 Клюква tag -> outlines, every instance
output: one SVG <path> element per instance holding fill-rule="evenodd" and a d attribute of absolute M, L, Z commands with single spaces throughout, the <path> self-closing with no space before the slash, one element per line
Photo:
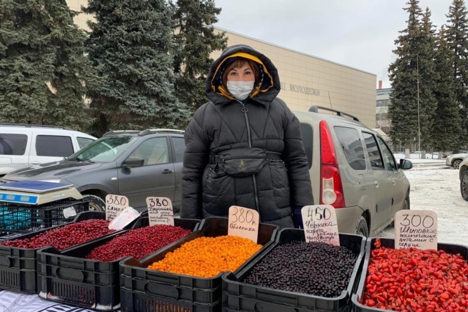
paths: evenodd
<path fill-rule="evenodd" d="M 89 219 L 105 219 L 104 212 L 82 212 L 72 222 Z M 53 228 L 61 227 L 58 225 Z M 51 230 L 43 229 L 34 233 L 23 234 L 15 239 L 25 239 Z M 41 248 L 27 249 L 0 245 L 0 289 L 7 289 L 23 293 L 36 293 L 37 284 L 37 251 Z"/>

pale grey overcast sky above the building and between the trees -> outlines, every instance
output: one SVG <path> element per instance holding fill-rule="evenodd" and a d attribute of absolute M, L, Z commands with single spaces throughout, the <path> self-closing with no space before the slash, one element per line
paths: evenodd
<path fill-rule="evenodd" d="M 394 40 L 406 27 L 406 0 L 215 0 L 216 26 L 362 69 L 390 87 Z M 432 23 L 445 24 L 451 0 L 420 0 Z"/>

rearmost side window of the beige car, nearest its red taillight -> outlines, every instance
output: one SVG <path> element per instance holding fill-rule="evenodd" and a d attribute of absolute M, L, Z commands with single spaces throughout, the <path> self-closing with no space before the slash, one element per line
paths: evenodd
<path fill-rule="evenodd" d="M 335 127 L 335 133 L 351 168 L 354 170 L 366 170 L 366 157 L 364 156 L 364 147 L 358 130 L 347 127 Z"/>

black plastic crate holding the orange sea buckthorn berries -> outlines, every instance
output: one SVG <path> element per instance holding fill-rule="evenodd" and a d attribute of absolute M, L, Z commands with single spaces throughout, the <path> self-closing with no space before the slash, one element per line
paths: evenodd
<path fill-rule="evenodd" d="M 251 259 L 270 246 L 277 226 L 260 223 L 258 243 L 263 247 Z M 223 273 L 211 278 L 195 277 L 147 269 L 155 261 L 182 244 L 202 236 L 216 237 L 228 234 L 228 219 L 210 217 L 202 220 L 199 231 L 178 244 L 136 261 L 120 262 L 120 301 L 122 312 L 211 312 L 221 310 Z M 242 269 L 243 265 L 237 270 Z"/>

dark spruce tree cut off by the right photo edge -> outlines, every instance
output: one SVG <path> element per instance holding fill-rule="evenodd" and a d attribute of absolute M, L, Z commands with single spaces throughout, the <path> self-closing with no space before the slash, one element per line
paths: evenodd
<path fill-rule="evenodd" d="M 452 79 L 460 109 L 460 143 L 468 144 L 468 14 L 463 0 L 453 0 L 446 15 L 445 39 L 452 57 Z"/>

